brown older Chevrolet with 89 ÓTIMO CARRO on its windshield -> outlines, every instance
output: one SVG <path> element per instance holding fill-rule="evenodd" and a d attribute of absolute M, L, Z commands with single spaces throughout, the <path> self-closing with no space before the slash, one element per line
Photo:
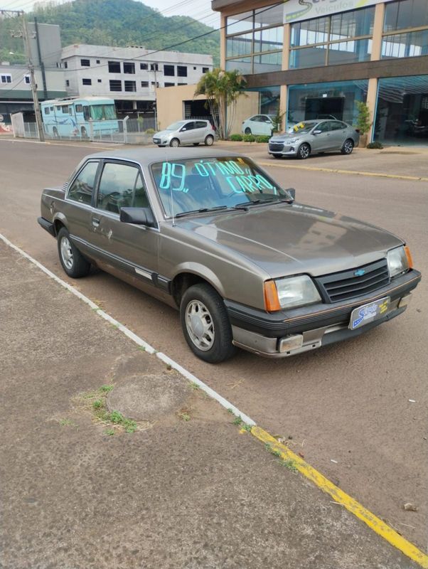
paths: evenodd
<path fill-rule="evenodd" d="M 69 277 L 96 265 L 179 309 L 210 363 L 235 346 L 281 358 L 358 336 L 404 312 L 421 278 L 402 239 L 296 203 L 224 151 L 92 154 L 43 191 L 38 223 Z"/>

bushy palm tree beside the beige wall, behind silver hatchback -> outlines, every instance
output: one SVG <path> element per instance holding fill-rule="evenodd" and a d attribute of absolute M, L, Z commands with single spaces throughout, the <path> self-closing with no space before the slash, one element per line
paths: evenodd
<path fill-rule="evenodd" d="M 208 101 L 218 137 L 229 137 L 236 112 L 236 103 L 246 81 L 238 70 L 223 71 L 219 68 L 205 73 L 196 85 L 195 95 L 205 95 Z"/>

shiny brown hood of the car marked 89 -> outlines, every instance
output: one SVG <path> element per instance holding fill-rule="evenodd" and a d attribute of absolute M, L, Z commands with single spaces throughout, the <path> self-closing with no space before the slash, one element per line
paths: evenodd
<path fill-rule="evenodd" d="M 176 225 L 205 238 L 207 249 L 232 250 L 271 277 L 348 270 L 403 243 L 368 223 L 299 203 L 183 218 Z"/>

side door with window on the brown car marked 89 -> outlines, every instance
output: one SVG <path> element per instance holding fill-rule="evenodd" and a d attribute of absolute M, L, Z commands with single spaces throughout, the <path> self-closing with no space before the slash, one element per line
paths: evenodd
<path fill-rule="evenodd" d="M 107 270 L 119 270 L 153 285 L 159 231 L 123 223 L 119 219 L 122 207 L 150 207 L 143 176 L 137 164 L 104 161 L 92 213 L 92 241 Z"/>

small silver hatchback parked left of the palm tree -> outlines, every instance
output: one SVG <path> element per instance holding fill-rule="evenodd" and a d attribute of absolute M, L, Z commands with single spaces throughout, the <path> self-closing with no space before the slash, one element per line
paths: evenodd
<path fill-rule="evenodd" d="M 165 130 L 153 135 L 153 142 L 159 147 L 179 147 L 184 144 L 205 144 L 210 147 L 215 139 L 215 130 L 209 120 L 178 120 Z"/>

